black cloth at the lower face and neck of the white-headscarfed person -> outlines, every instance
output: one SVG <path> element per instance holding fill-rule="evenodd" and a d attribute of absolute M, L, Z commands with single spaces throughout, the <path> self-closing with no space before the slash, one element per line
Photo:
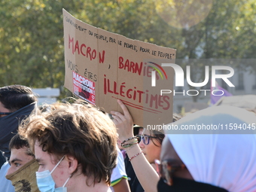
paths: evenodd
<path fill-rule="evenodd" d="M 211 184 L 200 183 L 186 178 L 172 178 L 173 184 L 169 186 L 163 178 L 157 183 L 158 192 L 228 192 Z"/>

